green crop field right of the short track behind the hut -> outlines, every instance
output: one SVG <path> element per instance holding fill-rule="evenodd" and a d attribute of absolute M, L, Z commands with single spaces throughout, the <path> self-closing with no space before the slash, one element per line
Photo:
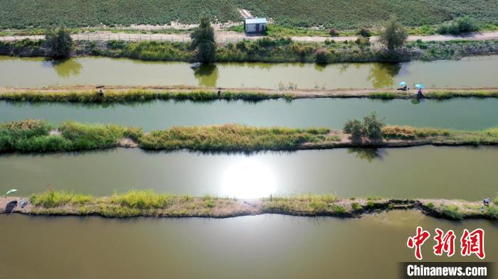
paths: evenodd
<path fill-rule="evenodd" d="M 288 26 L 324 25 L 339 29 L 376 26 L 391 14 L 407 26 L 422 26 L 470 15 L 498 23 L 497 0 L 260 0 L 238 1 L 253 14 Z M 242 4 L 244 3 L 244 4 Z"/>

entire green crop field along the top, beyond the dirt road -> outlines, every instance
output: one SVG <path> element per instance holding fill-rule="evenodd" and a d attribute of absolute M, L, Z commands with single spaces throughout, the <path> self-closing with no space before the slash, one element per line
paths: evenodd
<path fill-rule="evenodd" d="M 376 26 L 391 14 L 408 26 L 464 15 L 498 23 L 498 0 L 0 0 L 0 6 L 0 28 L 195 23 L 203 13 L 240 21 L 237 8 L 286 26 Z"/>

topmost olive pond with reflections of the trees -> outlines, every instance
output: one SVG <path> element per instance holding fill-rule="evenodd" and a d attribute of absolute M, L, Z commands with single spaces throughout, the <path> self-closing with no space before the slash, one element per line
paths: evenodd
<path fill-rule="evenodd" d="M 0 87 L 48 85 L 199 85 L 204 87 L 393 88 L 402 80 L 428 87 L 498 87 L 498 55 L 403 63 L 216 63 L 126 58 L 13 58 L 0 56 Z"/>

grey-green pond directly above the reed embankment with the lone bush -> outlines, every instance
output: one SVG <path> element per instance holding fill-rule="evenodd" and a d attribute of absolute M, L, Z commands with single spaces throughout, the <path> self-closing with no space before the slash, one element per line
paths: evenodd
<path fill-rule="evenodd" d="M 341 129 L 348 119 L 371 111 L 386 124 L 479 130 L 498 126 L 498 99 L 425 100 L 412 104 L 395 99 L 283 99 L 258 103 L 154 101 L 133 104 L 77 104 L 1 102 L 0 122 L 46 119 L 53 124 L 73 119 L 80 122 L 140 126 L 145 131 L 238 123 L 252 126 Z"/>

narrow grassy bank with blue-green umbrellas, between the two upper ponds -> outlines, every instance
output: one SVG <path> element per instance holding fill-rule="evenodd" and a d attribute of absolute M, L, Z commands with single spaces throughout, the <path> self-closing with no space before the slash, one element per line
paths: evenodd
<path fill-rule="evenodd" d="M 413 99 L 414 94 L 393 89 L 200 89 L 198 87 L 109 87 L 101 95 L 91 87 L 52 87 L 46 89 L 7 89 L 0 92 L 0 100 L 7 102 L 78 102 L 78 103 L 131 103 L 153 100 L 190 100 L 211 102 L 243 100 L 260 102 L 268 99 L 304 98 L 371 98 L 371 99 Z M 218 95 L 218 91 L 221 93 Z M 452 98 L 498 98 L 497 89 L 428 89 L 426 99 Z"/>

